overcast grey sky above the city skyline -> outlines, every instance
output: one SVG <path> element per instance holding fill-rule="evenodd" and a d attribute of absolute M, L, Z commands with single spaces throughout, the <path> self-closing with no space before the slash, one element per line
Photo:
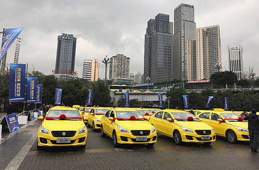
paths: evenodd
<path fill-rule="evenodd" d="M 19 63 L 49 75 L 55 69 L 57 36 L 77 38 L 75 70 L 84 59 L 130 57 L 130 73 L 142 72 L 147 21 L 158 13 L 170 15 L 180 3 L 194 5 L 196 27 L 220 26 L 222 66 L 228 70 L 227 46 L 244 47 L 244 68 L 259 75 L 258 0 L 5 0 L 0 5 L 0 30 L 21 27 Z M 108 73 L 109 75 L 109 73 Z"/>

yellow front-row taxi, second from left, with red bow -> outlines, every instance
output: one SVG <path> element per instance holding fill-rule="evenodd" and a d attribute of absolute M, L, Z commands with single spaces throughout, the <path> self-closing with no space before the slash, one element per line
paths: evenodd
<path fill-rule="evenodd" d="M 156 143 L 155 127 L 135 109 L 110 109 L 101 123 L 101 136 L 113 138 L 115 147 L 119 144 L 147 144 L 152 147 Z"/>

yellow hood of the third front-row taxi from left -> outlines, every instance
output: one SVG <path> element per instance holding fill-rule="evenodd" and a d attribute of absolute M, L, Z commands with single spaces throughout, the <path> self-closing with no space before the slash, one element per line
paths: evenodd
<path fill-rule="evenodd" d="M 192 130 L 211 130 L 211 126 L 204 122 L 198 121 L 177 121 L 176 124 L 187 127 Z"/>

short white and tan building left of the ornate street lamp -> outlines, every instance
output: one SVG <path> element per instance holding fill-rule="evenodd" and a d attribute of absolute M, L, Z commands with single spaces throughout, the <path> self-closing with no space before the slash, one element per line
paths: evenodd
<path fill-rule="evenodd" d="M 99 60 L 84 60 L 83 64 L 83 79 L 94 82 L 99 77 Z"/>

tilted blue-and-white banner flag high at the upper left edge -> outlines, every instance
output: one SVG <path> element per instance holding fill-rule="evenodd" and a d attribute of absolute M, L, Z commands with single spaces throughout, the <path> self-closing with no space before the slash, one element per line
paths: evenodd
<path fill-rule="evenodd" d="M 4 35 L 2 38 L 2 44 L 0 49 L 0 61 L 3 55 L 10 48 L 12 43 L 16 40 L 16 38 L 18 37 L 18 35 L 21 33 L 23 29 L 24 27 L 4 29 Z"/>

